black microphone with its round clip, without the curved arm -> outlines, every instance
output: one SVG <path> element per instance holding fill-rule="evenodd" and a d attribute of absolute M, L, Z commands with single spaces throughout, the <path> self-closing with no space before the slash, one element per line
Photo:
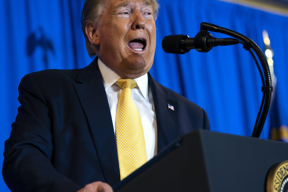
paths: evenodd
<path fill-rule="evenodd" d="M 213 38 L 206 30 L 201 30 L 195 38 L 188 35 L 169 35 L 163 38 L 162 48 L 167 53 L 184 54 L 190 49 L 196 49 L 199 52 L 208 52 L 215 46 L 238 44 L 238 39 L 233 38 Z"/>

